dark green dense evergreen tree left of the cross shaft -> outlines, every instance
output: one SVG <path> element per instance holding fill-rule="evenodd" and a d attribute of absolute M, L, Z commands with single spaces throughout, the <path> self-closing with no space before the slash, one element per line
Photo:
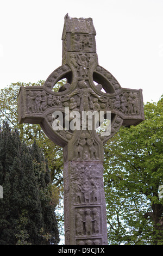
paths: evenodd
<path fill-rule="evenodd" d="M 56 204 L 47 162 L 34 142 L 27 147 L 4 123 L 0 132 L 1 245 L 57 245 Z"/>

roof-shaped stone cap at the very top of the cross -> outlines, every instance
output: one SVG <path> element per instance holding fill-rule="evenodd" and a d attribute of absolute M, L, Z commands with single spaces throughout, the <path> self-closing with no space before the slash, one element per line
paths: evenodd
<path fill-rule="evenodd" d="M 62 40 L 66 33 L 84 33 L 96 35 L 95 27 L 93 26 L 92 18 L 72 18 L 68 14 L 65 15 L 64 30 L 62 33 Z"/>

